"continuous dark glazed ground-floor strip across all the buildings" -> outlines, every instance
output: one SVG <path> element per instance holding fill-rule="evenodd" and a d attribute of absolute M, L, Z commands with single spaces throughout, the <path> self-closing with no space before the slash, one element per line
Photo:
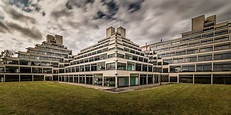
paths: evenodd
<path fill-rule="evenodd" d="M 126 76 L 105 76 L 103 73 L 66 75 L 0 73 L 0 82 L 19 81 L 62 81 L 111 87 L 139 86 L 159 82 L 231 84 L 231 73 L 130 74 Z"/>

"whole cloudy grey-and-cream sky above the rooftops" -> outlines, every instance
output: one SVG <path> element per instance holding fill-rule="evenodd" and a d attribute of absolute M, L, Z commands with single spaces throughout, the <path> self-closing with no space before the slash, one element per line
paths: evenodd
<path fill-rule="evenodd" d="M 47 34 L 63 36 L 77 54 L 105 38 L 106 28 L 122 26 L 139 45 L 180 38 L 191 19 L 217 15 L 231 20 L 230 0 L 1 0 L 0 51 L 26 51 Z"/>

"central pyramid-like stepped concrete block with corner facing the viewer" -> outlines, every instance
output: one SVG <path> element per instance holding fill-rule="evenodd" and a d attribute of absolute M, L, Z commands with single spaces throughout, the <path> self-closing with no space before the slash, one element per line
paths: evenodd
<path fill-rule="evenodd" d="M 106 38 L 74 57 L 59 81 L 117 88 L 157 83 L 158 76 L 139 45 L 126 38 L 126 30 L 109 27 Z"/>

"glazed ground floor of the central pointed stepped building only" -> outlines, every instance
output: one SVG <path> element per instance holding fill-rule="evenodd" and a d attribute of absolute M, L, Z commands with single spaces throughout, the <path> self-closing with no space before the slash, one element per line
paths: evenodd
<path fill-rule="evenodd" d="M 107 87 L 130 87 L 160 82 L 156 74 L 130 74 L 130 76 L 104 76 L 102 74 L 59 75 L 58 81 Z"/>

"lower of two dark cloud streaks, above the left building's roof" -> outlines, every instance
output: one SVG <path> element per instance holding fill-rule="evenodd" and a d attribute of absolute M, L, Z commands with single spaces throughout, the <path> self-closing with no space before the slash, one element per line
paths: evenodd
<path fill-rule="evenodd" d="M 36 28 L 26 28 L 22 27 L 21 25 L 15 24 L 15 23 L 10 23 L 6 22 L 6 25 L 13 31 L 18 31 L 22 35 L 30 37 L 31 39 L 41 39 L 42 38 L 42 33 Z"/>

